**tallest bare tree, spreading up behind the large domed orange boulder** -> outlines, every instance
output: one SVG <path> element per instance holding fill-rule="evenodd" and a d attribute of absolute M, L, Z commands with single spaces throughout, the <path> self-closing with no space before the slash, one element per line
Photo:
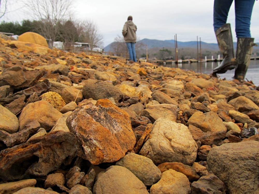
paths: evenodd
<path fill-rule="evenodd" d="M 39 31 L 49 41 L 50 48 L 59 34 L 60 23 L 71 16 L 73 2 L 73 0 L 29 0 L 26 4 L 30 15 L 40 21 Z"/>

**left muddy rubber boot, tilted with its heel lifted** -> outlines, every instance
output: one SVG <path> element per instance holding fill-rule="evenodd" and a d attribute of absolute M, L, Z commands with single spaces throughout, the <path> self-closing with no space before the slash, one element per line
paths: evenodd
<path fill-rule="evenodd" d="M 225 73 L 227 70 L 234 69 L 236 62 L 234 58 L 234 46 L 230 24 L 224 24 L 215 31 L 219 51 L 223 54 L 223 60 L 218 67 L 213 69 L 213 74 Z"/>

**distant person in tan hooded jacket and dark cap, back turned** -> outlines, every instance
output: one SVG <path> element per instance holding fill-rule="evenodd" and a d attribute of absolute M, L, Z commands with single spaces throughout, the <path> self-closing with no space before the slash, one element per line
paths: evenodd
<path fill-rule="evenodd" d="M 128 20 L 125 22 L 122 30 L 122 35 L 126 42 L 128 52 L 130 55 L 130 61 L 136 62 L 136 53 L 135 53 L 135 43 L 136 43 L 136 31 L 137 26 L 132 21 L 132 16 L 128 17 Z"/>

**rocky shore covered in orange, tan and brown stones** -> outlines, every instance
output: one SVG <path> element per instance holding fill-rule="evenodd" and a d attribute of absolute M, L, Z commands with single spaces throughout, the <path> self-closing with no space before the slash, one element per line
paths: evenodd
<path fill-rule="evenodd" d="M 251 81 L 21 37 L 0 34 L 0 194 L 259 193 Z"/>

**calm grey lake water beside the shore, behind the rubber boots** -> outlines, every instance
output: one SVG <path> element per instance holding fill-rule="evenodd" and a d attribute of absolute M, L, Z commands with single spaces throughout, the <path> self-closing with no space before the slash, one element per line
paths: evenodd
<path fill-rule="evenodd" d="M 166 64 L 167 67 L 177 67 L 184 70 L 192 70 L 196 73 L 211 74 L 212 70 L 216 68 L 220 62 L 202 62 L 202 63 L 179 63 Z M 221 79 L 233 80 L 235 69 L 228 70 L 226 73 L 217 74 Z M 246 72 L 245 80 L 253 81 L 254 85 L 259 86 L 259 60 L 251 60 L 248 70 Z"/>

